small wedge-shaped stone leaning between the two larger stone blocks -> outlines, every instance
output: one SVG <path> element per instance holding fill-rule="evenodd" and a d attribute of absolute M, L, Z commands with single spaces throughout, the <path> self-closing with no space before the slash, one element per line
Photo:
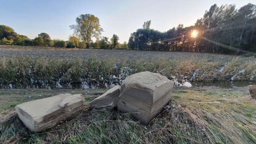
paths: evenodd
<path fill-rule="evenodd" d="M 117 102 L 119 100 L 119 92 L 120 92 L 120 86 L 114 86 L 114 88 L 111 88 L 98 98 L 94 99 L 92 102 L 88 104 L 88 107 L 90 109 L 93 108 L 105 108 L 107 110 L 112 110 L 114 107 L 117 106 Z"/>

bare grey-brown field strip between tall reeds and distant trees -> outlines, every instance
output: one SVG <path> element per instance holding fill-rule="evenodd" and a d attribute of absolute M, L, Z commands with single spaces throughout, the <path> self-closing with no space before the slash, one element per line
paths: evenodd
<path fill-rule="evenodd" d="M 78 49 L 78 48 L 52 48 L 52 47 L 32 47 L 32 46 L 2 46 L 0 45 L 0 56 L 7 58 L 11 56 L 46 56 L 60 58 L 83 58 L 90 57 L 104 58 L 112 57 L 120 60 L 145 59 L 157 60 L 159 58 L 174 60 L 201 60 L 207 59 L 208 62 L 218 60 L 220 63 L 228 62 L 238 58 L 234 55 L 209 54 L 200 52 L 164 52 L 164 51 L 137 51 L 137 50 L 101 50 L 101 49 Z M 248 59 L 248 58 L 242 58 Z"/>

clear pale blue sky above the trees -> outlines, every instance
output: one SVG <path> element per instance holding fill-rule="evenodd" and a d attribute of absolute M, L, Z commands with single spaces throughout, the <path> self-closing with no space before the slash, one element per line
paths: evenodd
<path fill-rule="evenodd" d="M 68 40 L 69 26 L 80 14 L 94 14 L 100 19 L 102 36 L 116 34 L 122 44 L 130 34 L 151 20 L 151 27 L 161 32 L 178 24 L 194 25 L 205 10 L 217 4 L 236 4 L 237 8 L 256 2 L 250 0 L 1 0 L 0 24 L 18 34 L 34 39 L 46 32 L 51 39 Z"/>

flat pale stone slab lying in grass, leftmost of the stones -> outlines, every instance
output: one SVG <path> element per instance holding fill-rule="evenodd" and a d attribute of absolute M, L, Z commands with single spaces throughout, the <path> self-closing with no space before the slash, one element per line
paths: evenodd
<path fill-rule="evenodd" d="M 70 120 L 79 114 L 84 105 L 81 94 L 59 94 L 49 98 L 25 102 L 15 106 L 24 125 L 32 132 L 42 132 L 60 121 Z"/>

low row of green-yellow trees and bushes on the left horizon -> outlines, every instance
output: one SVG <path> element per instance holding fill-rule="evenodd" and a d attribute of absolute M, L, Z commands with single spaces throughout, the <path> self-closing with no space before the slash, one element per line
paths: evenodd
<path fill-rule="evenodd" d="M 16 45 L 16 46 L 54 46 L 66 48 L 102 48 L 102 49 L 115 49 L 115 48 L 128 48 L 127 43 L 120 44 L 119 37 L 113 34 L 112 38 L 105 36 L 96 38 L 96 41 L 89 40 L 86 42 L 83 38 L 75 33 L 70 35 L 67 41 L 54 39 L 51 40 L 49 34 L 41 32 L 34 39 L 27 36 L 17 34 L 13 28 L 9 26 L 0 25 L 0 45 Z"/>

